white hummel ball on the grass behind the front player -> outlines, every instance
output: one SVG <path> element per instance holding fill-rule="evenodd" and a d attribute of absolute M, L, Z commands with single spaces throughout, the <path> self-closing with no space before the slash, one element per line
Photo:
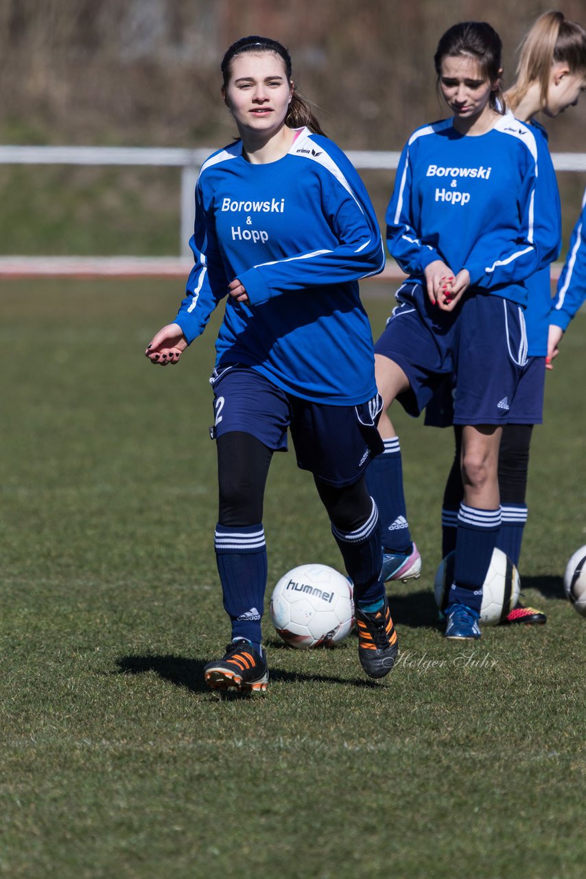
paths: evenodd
<path fill-rule="evenodd" d="M 301 564 L 273 589 L 271 620 L 292 647 L 332 647 L 354 624 L 351 582 L 326 564 Z"/>

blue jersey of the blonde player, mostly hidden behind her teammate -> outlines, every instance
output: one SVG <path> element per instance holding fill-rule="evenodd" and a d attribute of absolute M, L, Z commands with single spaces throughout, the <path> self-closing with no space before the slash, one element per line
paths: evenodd
<path fill-rule="evenodd" d="M 530 357 L 545 357 L 547 331 L 552 310 L 550 264 L 561 250 L 561 205 L 558 181 L 547 146 L 546 129 L 539 122 L 530 123 L 537 144 L 539 177 L 535 187 L 535 237 L 542 243 L 542 265 L 527 278 L 527 352 Z"/>

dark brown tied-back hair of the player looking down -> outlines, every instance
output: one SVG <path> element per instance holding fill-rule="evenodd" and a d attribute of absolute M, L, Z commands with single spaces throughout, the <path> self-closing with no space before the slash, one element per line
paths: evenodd
<path fill-rule="evenodd" d="M 486 21 L 461 21 L 452 25 L 440 37 L 433 63 L 439 76 L 442 61 L 447 55 L 469 55 L 478 62 L 482 76 L 493 86 L 490 106 L 497 113 L 504 113 L 501 76 L 503 69 L 503 43 L 496 30 Z"/>

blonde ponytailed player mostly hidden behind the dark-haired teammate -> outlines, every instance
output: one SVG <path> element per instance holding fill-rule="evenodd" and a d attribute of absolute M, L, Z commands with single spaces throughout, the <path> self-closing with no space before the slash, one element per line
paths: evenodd
<path fill-rule="evenodd" d="M 534 213 L 539 217 L 536 235 L 543 240 L 546 263 L 525 280 L 528 300 L 525 310 L 528 359 L 509 403 L 508 424 L 503 426 L 498 476 L 502 524 L 496 546 L 518 566 L 527 520 L 525 494 L 529 449 L 533 425 L 541 424 L 548 355 L 548 334 L 554 347 L 561 338 L 558 326 L 566 320 L 563 306 L 552 310 L 550 265 L 561 245 L 561 211 L 553 163 L 547 149 L 546 129 L 535 116 L 540 111 L 553 118 L 575 106 L 586 87 L 586 33 L 581 25 L 568 21 L 561 12 L 546 12 L 526 34 L 517 65 L 517 82 L 505 94 L 506 105 L 535 135 L 539 156 L 539 178 Z M 536 226 L 538 224 L 536 223 Z M 545 237 L 544 237 L 545 236 Z M 563 297 L 561 299 L 563 302 Z M 571 306 L 569 310 L 571 312 Z M 557 309 L 557 316 L 556 316 Z M 561 314 L 560 314 L 561 310 Z M 566 323 L 567 325 L 567 323 Z M 551 352 L 550 352 L 551 356 Z M 448 382 L 451 385 L 451 382 Z M 458 391 L 455 389 L 455 393 Z M 425 423 L 452 423 L 452 388 L 446 387 L 426 411 Z M 447 398 L 446 398 L 447 397 Z M 455 428 L 456 452 L 445 487 L 442 509 L 442 552 L 447 556 L 456 545 L 459 505 L 463 496 L 460 476 L 461 427 Z M 546 614 L 518 604 L 507 617 L 509 623 L 545 623 Z"/>

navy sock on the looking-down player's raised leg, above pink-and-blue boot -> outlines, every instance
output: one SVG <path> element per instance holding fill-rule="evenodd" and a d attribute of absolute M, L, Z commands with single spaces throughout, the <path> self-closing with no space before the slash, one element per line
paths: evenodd
<path fill-rule="evenodd" d="M 385 451 L 366 469 L 366 485 L 379 508 L 382 545 L 387 551 L 409 553 L 411 534 L 403 490 L 399 437 L 384 439 Z"/>

